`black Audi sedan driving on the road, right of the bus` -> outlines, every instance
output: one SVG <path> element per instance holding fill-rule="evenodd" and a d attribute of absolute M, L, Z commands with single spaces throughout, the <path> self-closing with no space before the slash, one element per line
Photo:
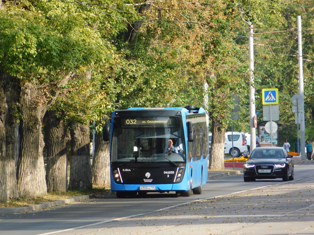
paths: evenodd
<path fill-rule="evenodd" d="M 294 165 L 292 155 L 282 147 L 255 148 L 243 166 L 244 181 L 256 179 L 293 180 Z"/>

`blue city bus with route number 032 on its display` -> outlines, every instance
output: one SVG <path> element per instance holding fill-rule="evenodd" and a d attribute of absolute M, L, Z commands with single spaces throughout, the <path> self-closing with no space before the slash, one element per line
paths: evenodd
<path fill-rule="evenodd" d="M 202 193 L 208 169 L 208 115 L 203 108 L 115 110 L 103 127 L 110 140 L 111 191 Z"/>

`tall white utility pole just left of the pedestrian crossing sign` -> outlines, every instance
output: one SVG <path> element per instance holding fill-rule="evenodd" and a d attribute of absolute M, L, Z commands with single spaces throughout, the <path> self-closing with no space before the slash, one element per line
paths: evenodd
<path fill-rule="evenodd" d="M 254 51 L 253 51 L 253 25 L 248 21 L 249 27 L 249 60 L 250 60 L 250 129 L 251 129 L 251 147 L 250 152 L 256 147 L 256 128 L 254 125 L 255 116 L 255 88 L 254 88 Z"/>

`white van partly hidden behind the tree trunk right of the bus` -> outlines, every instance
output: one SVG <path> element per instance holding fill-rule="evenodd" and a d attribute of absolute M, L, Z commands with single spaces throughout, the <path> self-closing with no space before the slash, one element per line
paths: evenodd
<path fill-rule="evenodd" d="M 232 137 L 233 137 L 233 152 L 232 152 Z M 212 141 L 212 133 L 209 133 L 209 143 Z M 247 155 L 246 137 L 244 132 L 234 131 L 233 135 L 230 132 L 225 133 L 225 154 L 230 154 L 235 158 L 242 155 Z"/>

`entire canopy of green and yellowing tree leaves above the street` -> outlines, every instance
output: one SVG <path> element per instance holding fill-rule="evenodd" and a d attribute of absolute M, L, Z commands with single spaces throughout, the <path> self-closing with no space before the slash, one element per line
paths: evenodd
<path fill-rule="evenodd" d="M 210 5 L 157 1 L 145 12 L 138 12 L 135 4 L 142 2 L 136 1 L 9 3 L 0 18 L 0 68 L 44 86 L 75 71 L 54 108 L 63 110 L 68 120 L 85 123 L 101 124 L 116 108 L 203 106 L 208 95 L 205 108 L 211 118 L 230 128 L 231 95 L 236 93 L 241 112 L 240 119 L 233 120 L 234 128 L 249 132 L 248 24 L 244 20 L 250 21 L 255 33 L 258 122 L 262 121 L 262 89 L 276 87 L 280 121 L 287 124 L 280 128 L 290 136 L 287 130 L 294 120 L 290 100 L 298 93 L 298 63 L 291 56 L 296 55 L 297 44 L 286 30 L 284 16 L 289 15 L 295 28 L 296 16 L 304 13 L 303 27 L 311 29 L 311 8 L 281 8 L 298 4 L 284 0 L 215 0 Z M 131 44 L 122 34 L 135 20 L 142 21 Z M 306 120 L 311 120 L 312 31 L 303 35 L 303 52 L 309 59 L 304 61 Z"/>

